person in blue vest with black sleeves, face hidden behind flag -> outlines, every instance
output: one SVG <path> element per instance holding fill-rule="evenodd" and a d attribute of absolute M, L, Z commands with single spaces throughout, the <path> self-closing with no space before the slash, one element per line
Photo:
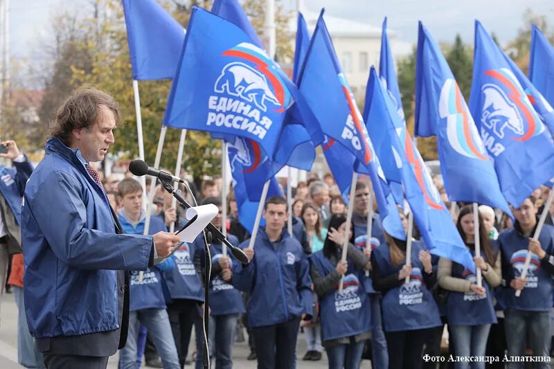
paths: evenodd
<path fill-rule="evenodd" d="M 400 216 L 407 224 L 404 214 Z M 423 344 L 432 328 L 442 326 L 429 291 L 436 284 L 431 254 L 424 242 L 412 241 L 411 263 L 404 264 L 406 241 L 386 232 L 384 237 L 385 242 L 373 250 L 371 276 L 373 288 L 383 296 L 388 368 L 421 368 Z"/>

